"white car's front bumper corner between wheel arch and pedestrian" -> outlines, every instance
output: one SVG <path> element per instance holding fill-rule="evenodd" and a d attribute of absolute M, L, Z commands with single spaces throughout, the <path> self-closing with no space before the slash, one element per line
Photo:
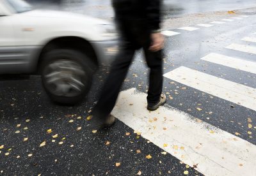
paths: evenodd
<path fill-rule="evenodd" d="M 118 53 L 118 40 L 91 41 L 99 66 L 110 66 Z"/>

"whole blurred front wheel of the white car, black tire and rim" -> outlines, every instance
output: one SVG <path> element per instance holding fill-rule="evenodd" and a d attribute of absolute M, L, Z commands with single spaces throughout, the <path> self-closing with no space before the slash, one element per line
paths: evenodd
<path fill-rule="evenodd" d="M 55 103 L 74 105 L 84 99 L 92 85 L 95 64 L 78 50 L 47 52 L 40 66 L 42 85 Z"/>

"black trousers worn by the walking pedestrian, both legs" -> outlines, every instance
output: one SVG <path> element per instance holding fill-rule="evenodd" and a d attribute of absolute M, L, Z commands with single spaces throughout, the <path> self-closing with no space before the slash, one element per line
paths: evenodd
<path fill-rule="evenodd" d="M 108 78 L 102 87 L 99 101 L 93 108 L 93 113 L 100 119 L 108 117 L 113 110 L 122 83 L 131 65 L 134 53 L 137 49 L 143 48 L 147 65 L 150 68 L 149 88 L 147 101 L 156 104 L 159 101 L 163 87 L 162 51 L 151 52 L 150 31 L 141 23 L 136 24 L 122 21 L 119 23 L 122 43 L 119 54 L 113 61 Z"/>

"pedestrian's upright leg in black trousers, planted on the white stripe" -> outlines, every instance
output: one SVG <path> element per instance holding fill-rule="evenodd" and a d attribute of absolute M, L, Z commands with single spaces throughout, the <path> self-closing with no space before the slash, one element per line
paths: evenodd
<path fill-rule="evenodd" d="M 162 50 L 152 52 L 148 47 L 143 47 L 143 50 L 150 68 L 147 101 L 149 105 L 154 105 L 159 101 L 163 89 Z"/>

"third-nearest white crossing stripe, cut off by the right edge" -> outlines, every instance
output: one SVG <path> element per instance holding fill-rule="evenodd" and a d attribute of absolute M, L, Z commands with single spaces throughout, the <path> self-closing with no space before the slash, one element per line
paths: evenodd
<path fill-rule="evenodd" d="M 256 62 L 245 61 L 243 59 L 238 59 L 236 57 L 228 57 L 226 55 L 216 53 L 208 54 L 205 57 L 202 57 L 201 59 L 204 61 L 256 74 Z"/>

